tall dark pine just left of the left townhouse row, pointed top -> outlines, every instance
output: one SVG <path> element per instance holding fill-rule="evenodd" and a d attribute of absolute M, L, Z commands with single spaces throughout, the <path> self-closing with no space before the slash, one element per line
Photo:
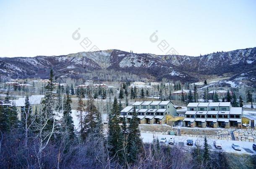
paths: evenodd
<path fill-rule="evenodd" d="M 115 97 L 114 103 L 112 106 L 111 114 L 109 116 L 109 122 L 108 122 L 108 144 L 109 144 L 109 150 L 113 155 L 117 153 L 117 156 L 119 159 L 122 159 L 123 151 L 120 151 L 123 149 L 123 134 L 121 132 L 121 128 L 119 125 L 119 106 L 118 106 L 118 100 Z"/>

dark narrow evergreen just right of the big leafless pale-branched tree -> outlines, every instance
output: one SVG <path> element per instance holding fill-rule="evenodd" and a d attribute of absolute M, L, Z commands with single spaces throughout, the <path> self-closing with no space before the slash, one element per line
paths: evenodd
<path fill-rule="evenodd" d="M 73 140 L 75 138 L 75 132 L 74 132 L 74 122 L 73 118 L 71 116 L 71 98 L 69 95 L 67 95 L 66 102 L 65 102 L 65 109 L 63 111 L 63 117 L 62 117 L 62 134 L 65 139 Z"/>

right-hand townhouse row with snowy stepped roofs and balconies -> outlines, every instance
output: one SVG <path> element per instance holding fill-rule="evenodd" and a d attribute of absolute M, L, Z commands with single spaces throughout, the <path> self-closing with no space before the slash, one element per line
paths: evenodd
<path fill-rule="evenodd" d="M 241 127 L 243 109 L 230 102 L 188 103 L 183 126 L 189 127 Z"/>

